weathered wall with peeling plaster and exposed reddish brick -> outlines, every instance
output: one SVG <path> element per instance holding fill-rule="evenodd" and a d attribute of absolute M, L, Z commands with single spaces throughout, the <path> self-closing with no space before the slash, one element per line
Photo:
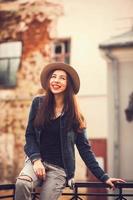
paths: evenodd
<path fill-rule="evenodd" d="M 21 41 L 13 89 L 0 88 L 0 182 L 13 182 L 24 161 L 24 134 L 33 96 L 43 92 L 40 71 L 51 60 L 51 42 L 61 5 L 46 0 L 0 3 L 0 43 Z"/>

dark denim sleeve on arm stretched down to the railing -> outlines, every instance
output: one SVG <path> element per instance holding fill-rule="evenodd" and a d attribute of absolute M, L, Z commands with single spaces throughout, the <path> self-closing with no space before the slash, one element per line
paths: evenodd
<path fill-rule="evenodd" d="M 91 150 L 85 130 L 82 133 L 77 133 L 76 146 L 81 158 L 94 176 L 96 176 L 96 178 L 98 178 L 100 181 L 105 182 L 109 176 L 99 166 L 99 163 L 97 162 L 95 155 Z"/>

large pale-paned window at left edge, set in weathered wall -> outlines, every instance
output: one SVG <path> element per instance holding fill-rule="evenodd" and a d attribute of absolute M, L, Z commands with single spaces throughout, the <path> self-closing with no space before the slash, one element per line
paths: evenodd
<path fill-rule="evenodd" d="M 21 42 L 0 44 L 0 87 L 16 86 L 16 73 L 22 52 Z"/>

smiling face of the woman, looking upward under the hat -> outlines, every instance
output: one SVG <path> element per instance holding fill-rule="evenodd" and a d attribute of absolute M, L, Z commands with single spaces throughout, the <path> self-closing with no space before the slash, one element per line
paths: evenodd
<path fill-rule="evenodd" d="M 67 74 L 63 70 L 55 70 L 49 80 L 50 90 L 53 94 L 61 94 L 67 87 Z"/>

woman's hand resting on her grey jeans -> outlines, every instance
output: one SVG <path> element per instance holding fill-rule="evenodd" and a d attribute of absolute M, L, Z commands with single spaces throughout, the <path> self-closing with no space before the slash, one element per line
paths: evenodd
<path fill-rule="evenodd" d="M 43 179 L 45 177 L 45 167 L 40 159 L 34 161 L 33 169 L 38 178 Z"/>

